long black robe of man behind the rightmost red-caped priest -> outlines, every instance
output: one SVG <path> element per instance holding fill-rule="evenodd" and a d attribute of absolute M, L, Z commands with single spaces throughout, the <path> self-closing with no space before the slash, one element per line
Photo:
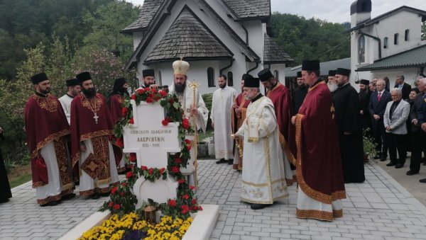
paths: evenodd
<path fill-rule="evenodd" d="M 365 181 L 364 148 L 358 93 L 350 84 L 339 87 L 334 91 L 333 104 L 344 182 L 362 183 Z"/>

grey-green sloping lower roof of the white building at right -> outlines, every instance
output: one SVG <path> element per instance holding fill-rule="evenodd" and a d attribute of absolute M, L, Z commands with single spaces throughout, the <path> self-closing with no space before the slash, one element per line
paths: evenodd
<path fill-rule="evenodd" d="M 413 49 L 399 52 L 389 57 L 383 57 L 373 62 L 356 69 L 356 72 L 374 71 L 380 69 L 397 69 L 405 67 L 425 67 L 426 66 L 426 45 L 415 47 Z"/>

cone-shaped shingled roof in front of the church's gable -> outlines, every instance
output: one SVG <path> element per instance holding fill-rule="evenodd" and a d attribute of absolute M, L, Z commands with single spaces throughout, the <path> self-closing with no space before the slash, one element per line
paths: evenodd
<path fill-rule="evenodd" d="M 185 7 L 163 39 L 146 57 L 144 64 L 167 62 L 180 57 L 189 60 L 231 59 L 232 56 L 219 38 Z"/>

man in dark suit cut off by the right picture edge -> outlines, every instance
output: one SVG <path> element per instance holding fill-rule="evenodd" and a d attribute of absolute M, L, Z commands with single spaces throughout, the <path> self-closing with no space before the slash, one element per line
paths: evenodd
<path fill-rule="evenodd" d="M 426 79 L 425 79 L 426 80 Z M 420 163 L 422 161 L 422 148 L 425 144 L 425 132 L 421 130 L 421 121 L 423 120 L 422 105 L 423 95 L 426 91 L 426 81 L 419 79 L 417 81 L 417 88 L 420 93 L 417 94 L 414 100 L 413 107 L 410 111 L 410 123 L 411 123 L 411 160 L 410 170 L 407 171 L 407 175 L 411 176 L 419 173 Z"/>

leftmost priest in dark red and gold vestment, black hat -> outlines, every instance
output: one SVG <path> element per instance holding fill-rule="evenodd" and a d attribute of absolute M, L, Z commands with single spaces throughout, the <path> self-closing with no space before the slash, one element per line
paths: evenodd
<path fill-rule="evenodd" d="M 35 93 L 25 105 L 25 128 L 33 188 L 42 207 L 75 196 L 65 137 L 70 128 L 58 98 L 50 94 L 45 73 L 31 77 Z"/>

